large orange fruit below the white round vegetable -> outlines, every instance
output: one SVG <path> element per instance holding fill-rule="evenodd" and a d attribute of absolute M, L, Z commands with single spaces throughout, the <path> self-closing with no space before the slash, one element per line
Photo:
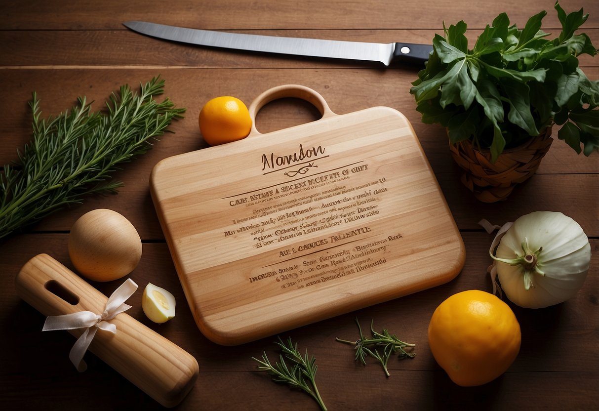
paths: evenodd
<path fill-rule="evenodd" d="M 488 383 L 512 365 L 520 350 L 520 324 L 493 294 L 469 290 L 443 301 L 428 325 L 432 356 L 461 386 Z"/>

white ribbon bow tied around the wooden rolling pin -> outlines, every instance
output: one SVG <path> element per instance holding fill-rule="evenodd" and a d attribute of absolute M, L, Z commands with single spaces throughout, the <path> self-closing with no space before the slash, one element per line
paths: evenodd
<path fill-rule="evenodd" d="M 89 344 L 92 343 L 98 328 L 116 334 L 116 325 L 108 321 L 131 308 L 131 306 L 125 304 L 125 301 L 134 294 L 135 290 L 137 290 L 137 284 L 132 279 L 127 279 L 108 298 L 102 314 L 92 313 L 91 311 L 80 311 L 77 313 L 50 316 L 46 318 L 42 331 L 86 328 L 71 348 L 71 352 L 69 352 L 71 362 L 75 365 L 77 371 L 81 373 L 87 369 L 87 364 L 83 361 L 83 355 L 87 351 Z"/>

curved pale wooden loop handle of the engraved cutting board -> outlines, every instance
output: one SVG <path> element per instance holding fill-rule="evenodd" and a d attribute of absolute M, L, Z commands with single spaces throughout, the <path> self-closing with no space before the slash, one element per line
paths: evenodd
<path fill-rule="evenodd" d="M 265 104 L 285 97 L 301 98 L 302 100 L 313 104 L 314 107 L 320 111 L 322 118 L 335 115 L 335 113 L 333 113 L 329 108 L 329 105 L 326 104 L 326 100 L 323 98 L 323 96 L 310 87 L 301 86 L 300 84 L 283 84 L 282 86 L 277 86 L 266 90 L 264 93 L 256 97 L 254 101 L 252 101 L 252 104 L 250 104 L 250 107 L 248 107 L 248 110 L 250 111 L 250 117 L 252 117 L 252 130 L 250 131 L 249 137 L 252 137 L 252 135 L 261 134 L 261 132 L 256 129 L 256 115 L 258 114 L 258 111 L 260 111 Z"/>

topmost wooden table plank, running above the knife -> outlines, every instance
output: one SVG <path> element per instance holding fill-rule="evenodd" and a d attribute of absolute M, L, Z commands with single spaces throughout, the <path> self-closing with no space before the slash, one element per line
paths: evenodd
<path fill-rule="evenodd" d="M 588 26 L 599 28 L 599 6 L 585 0 L 562 0 L 567 11 L 585 8 L 591 14 Z M 32 10 L 35 13 L 32 13 Z M 473 28 L 484 28 L 498 14 L 508 11 L 510 21 L 524 27 L 528 17 L 548 12 L 547 27 L 558 27 L 553 2 L 542 6 L 517 0 L 497 2 L 483 0 L 476 6 L 468 0 L 452 2 L 421 2 L 406 0 L 398 6 L 395 0 L 379 0 L 365 4 L 344 0 L 280 0 L 277 2 L 247 2 L 223 0 L 210 7 L 202 2 L 183 0 L 172 7 L 168 2 L 152 7 L 119 0 L 102 2 L 67 0 L 40 2 L 6 0 L 0 5 L 4 18 L 0 29 L 120 29 L 121 22 L 146 20 L 170 25 L 201 23 L 205 29 L 398 29 L 441 28 L 443 20 L 455 23 L 465 20 Z"/>

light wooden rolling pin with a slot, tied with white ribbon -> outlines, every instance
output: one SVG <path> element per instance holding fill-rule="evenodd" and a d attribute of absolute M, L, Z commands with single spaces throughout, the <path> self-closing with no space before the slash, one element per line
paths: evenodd
<path fill-rule="evenodd" d="M 81 311 L 101 314 L 108 297 L 47 254 L 29 260 L 15 279 L 19 297 L 45 316 Z M 120 313 L 116 334 L 98 330 L 89 350 L 165 407 L 174 407 L 192 389 L 198 362 L 181 347 Z M 84 330 L 69 330 L 79 337 Z M 66 358 L 65 358 L 66 359 Z"/>

